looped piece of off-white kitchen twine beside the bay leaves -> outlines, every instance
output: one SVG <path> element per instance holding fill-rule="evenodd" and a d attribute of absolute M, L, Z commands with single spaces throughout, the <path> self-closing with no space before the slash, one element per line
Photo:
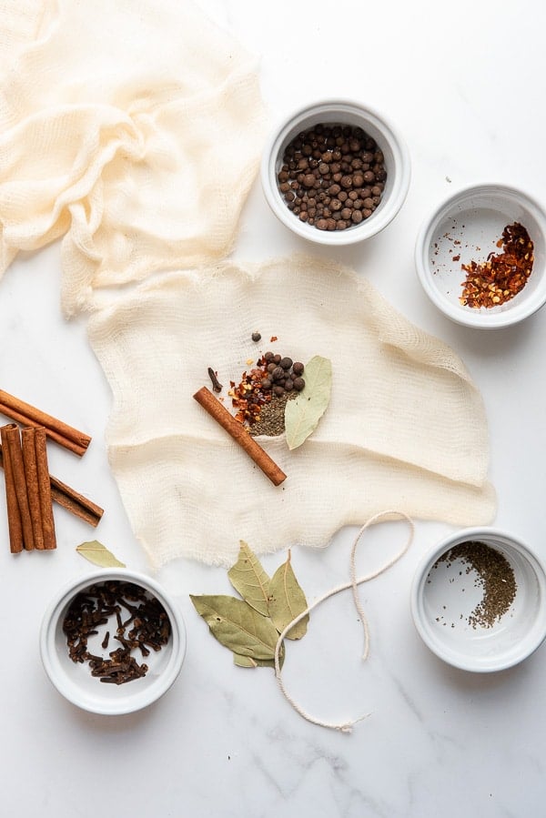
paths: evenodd
<path fill-rule="evenodd" d="M 383 565 L 377 571 L 372 571 L 371 573 L 366 574 L 365 576 L 357 579 L 356 552 L 357 546 L 362 535 L 364 534 L 364 531 L 367 530 L 370 525 L 379 522 L 379 520 L 383 520 L 387 517 L 389 518 L 389 520 L 391 520 L 393 515 L 399 520 L 406 520 L 408 522 L 410 526 L 410 535 L 408 537 L 408 540 L 404 543 L 403 547 L 399 550 L 398 554 L 396 554 L 391 560 L 386 562 L 385 565 Z M 410 517 L 403 511 L 397 510 L 379 511 L 379 513 L 374 514 L 372 517 L 370 517 L 369 520 L 365 522 L 362 528 L 359 530 L 352 545 L 352 549 L 350 552 L 350 581 L 344 583 L 343 585 L 339 585 L 336 588 L 333 588 L 331 591 L 327 591 L 325 594 L 323 594 L 323 596 L 319 597 L 319 599 L 314 601 L 312 605 L 309 605 L 308 608 L 305 609 L 305 611 L 301 611 L 301 613 L 299 613 L 297 617 L 295 617 L 291 622 L 289 622 L 284 631 L 282 631 L 282 633 L 279 635 L 277 645 L 275 646 L 275 675 L 277 677 L 278 686 L 280 688 L 280 691 L 283 693 L 286 700 L 292 705 L 294 710 L 298 712 L 300 716 L 303 716 L 304 719 L 307 719 L 308 722 L 318 724 L 319 727 L 329 727 L 330 730 L 339 730 L 339 732 L 352 732 L 353 726 L 357 722 L 361 722 L 363 719 L 368 718 L 369 713 L 365 713 L 364 715 L 359 716 L 356 719 L 352 719 L 349 722 L 337 724 L 336 722 L 323 722 L 321 719 L 318 719 L 315 716 L 312 716 L 310 713 L 303 710 L 303 708 L 298 705 L 298 702 L 295 702 L 292 696 L 288 693 L 281 676 L 279 651 L 285 636 L 287 635 L 290 628 L 293 628 L 294 625 L 298 623 L 298 621 L 301 621 L 304 617 L 308 615 L 308 613 L 310 613 L 310 611 L 313 611 L 315 608 L 317 608 L 317 606 L 320 605 L 321 602 L 329 600 L 330 597 L 335 596 L 337 593 L 340 593 L 341 591 L 348 591 L 349 588 L 352 588 L 355 607 L 357 609 L 357 612 L 359 613 L 360 621 L 362 622 L 362 628 L 364 631 L 364 651 L 362 651 L 362 661 L 366 661 L 369 655 L 369 627 L 368 621 L 366 620 L 366 615 L 364 613 L 364 609 L 362 608 L 362 603 L 360 602 L 358 587 L 363 582 L 368 582 L 369 580 L 373 580 L 375 577 L 379 577 L 379 574 L 382 574 L 384 571 L 387 571 L 392 565 L 394 565 L 395 562 L 398 562 L 400 557 L 403 557 L 406 551 L 410 548 L 410 544 L 413 540 L 414 533 L 415 526 L 413 524 L 413 520 L 411 520 Z"/>

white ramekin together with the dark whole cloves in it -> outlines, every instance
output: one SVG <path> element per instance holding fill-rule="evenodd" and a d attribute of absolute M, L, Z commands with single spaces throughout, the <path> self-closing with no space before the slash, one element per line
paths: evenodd
<path fill-rule="evenodd" d="M 176 601 L 145 574 L 100 569 L 69 583 L 45 611 L 40 653 L 50 681 L 88 712 L 140 710 L 176 681 L 186 629 Z"/>

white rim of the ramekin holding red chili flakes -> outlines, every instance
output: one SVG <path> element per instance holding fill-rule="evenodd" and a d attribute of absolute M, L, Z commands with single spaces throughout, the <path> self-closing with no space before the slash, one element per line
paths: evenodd
<path fill-rule="evenodd" d="M 465 197 L 479 196 L 480 193 L 487 193 L 489 191 L 491 193 L 504 193 L 509 197 L 516 198 L 521 201 L 523 205 L 529 207 L 531 211 L 534 211 L 537 221 L 542 225 L 542 233 L 546 240 L 546 210 L 536 197 L 533 197 L 530 193 L 515 185 L 509 185 L 503 182 L 481 181 L 458 188 L 454 192 L 451 192 L 448 197 L 444 197 L 440 203 L 432 209 L 430 214 L 421 222 L 414 250 L 417 275 L 430 301 L 440 309 L 440 312 L 457 324 L 477 329 L 511 327 L 525 318 L 534 315 L 535 312 L 538 312 L 538 310 L 546 304 L 546 283 L 541 291 L 537 293 L 536 298 L 524 299 L 517 307 L 495 314 L 484 314 L 481 311 L 470 312 L 462 307 L 459 308 L 456 305 L 452 305 L 448 301 L 439 298 L 437 289 L 432 285 L 432 273 L 428 258 L 430 239 L 435 227 L 438 227 L 441 218 L 449 211 L 451 206 L 457 204 L 457 202 Z"/>

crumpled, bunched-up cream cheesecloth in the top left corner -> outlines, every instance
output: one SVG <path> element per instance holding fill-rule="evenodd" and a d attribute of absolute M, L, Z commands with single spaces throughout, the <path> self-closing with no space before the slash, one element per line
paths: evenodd
<path fill-rule="evenodd" d="M 71 316 L 226 257 L 267 120 L 254 57 L 190 0 L 2 0 L 0 45 L 0 273 L 63 237 Z"/>

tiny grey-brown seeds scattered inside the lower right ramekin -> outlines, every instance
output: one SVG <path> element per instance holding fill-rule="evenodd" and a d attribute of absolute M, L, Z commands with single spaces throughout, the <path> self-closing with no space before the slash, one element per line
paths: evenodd
<path fill-rule="evenodd" d="M 500 550 L 485 542 L 469 540 L 442 554 L 432 568 L 438 568 L 442 562 L 448 568 L 455 562 L 462 563 L 466 574 L 474 571 L 475 587 L 483 589 L 483 598 L 468 616 L 472 628 L 492 628 L 510 610 L 517 584 L 511 564 Z"/>

